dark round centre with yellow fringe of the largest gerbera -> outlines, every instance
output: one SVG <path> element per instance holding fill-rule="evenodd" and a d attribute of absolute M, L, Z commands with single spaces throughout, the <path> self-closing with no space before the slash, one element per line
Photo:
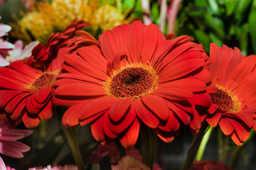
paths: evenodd
<path fill-rule="evenodd" d="M 107 96 L 116 98 L 132 98 L 150 94 L 157 89 L 158 76 L 153 69 L 144 64 L 130 64 L 114 72 L 106 81 Z"/>

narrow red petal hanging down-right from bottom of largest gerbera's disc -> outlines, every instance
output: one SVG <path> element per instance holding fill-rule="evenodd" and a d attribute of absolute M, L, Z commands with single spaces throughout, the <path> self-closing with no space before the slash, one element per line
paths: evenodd
<path fill-rule="evenodd" d="M 149 108 L 147 108 L 144 103 L 142 103 L 142 99 L 138 99 L 134 101 L 134 108 L 139 116 L 139 118 L 150 128 L 157 128 L 159 125 L 159 118 L 154 115 Z"/>

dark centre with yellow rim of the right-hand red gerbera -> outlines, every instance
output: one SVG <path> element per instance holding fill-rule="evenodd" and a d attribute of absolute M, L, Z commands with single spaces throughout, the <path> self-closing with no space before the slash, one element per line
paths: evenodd
<path fill-rule="evenodd" d="M 210 94 L 212 102 L 225 113 L 238 113 L 241 111 L 241 102 L 238 96 L 235 96 L 231 91 L 222 86 L 217 86 L 217 92 Z"/>

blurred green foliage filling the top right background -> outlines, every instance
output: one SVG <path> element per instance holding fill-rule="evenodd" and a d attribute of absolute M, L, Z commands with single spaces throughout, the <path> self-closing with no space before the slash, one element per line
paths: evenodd
<path fill-rule="evenodd" d="M 191 35 L 209 52 L 210 42 L 256 53 L 255 0 L 184 0 L 176 20 L 177 35 Z"/>

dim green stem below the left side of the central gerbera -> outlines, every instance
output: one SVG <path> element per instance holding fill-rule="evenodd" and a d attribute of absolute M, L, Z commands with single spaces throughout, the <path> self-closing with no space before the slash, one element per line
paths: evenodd
<path fill-rule="evenodd" d="M 68 139 L 68 143 L 70 145 L 71 152 L 75 159 L 75 164 L 78 166 L 79 169 L 85 170 L 85 163 L 83 162 L 82 154 L 81 154 L 79 146 L 78 146 L 78 137 L 75 133 L 75 129 L 74 128 L 65 128 L 63 126 L 63 130 L 65 132 L 65 136 Z"/>

